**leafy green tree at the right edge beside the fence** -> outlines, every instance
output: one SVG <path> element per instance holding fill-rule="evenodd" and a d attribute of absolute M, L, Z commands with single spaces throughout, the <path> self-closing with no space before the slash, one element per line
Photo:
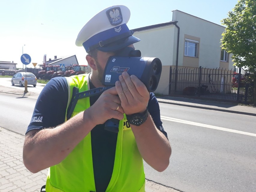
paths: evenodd
<path fill-rule="evenodd" d="M 251 72 L 254 82 L 254 105 L 256 105 L 256 1 L 239 0 L 235 8 L 221 20 L 226 26 L 222 34 L 221 47 L 228 53 L 237 67 Z"/>

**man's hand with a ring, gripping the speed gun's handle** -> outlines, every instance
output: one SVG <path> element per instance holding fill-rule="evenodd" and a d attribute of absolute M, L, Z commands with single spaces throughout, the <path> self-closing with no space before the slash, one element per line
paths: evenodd
<path fill-rule="evenodd" d="M 104 91 L 89 110 L 96 125 L 103 124 L 111 118 L 122 120 L 124 111 L 116 87 Z"/>

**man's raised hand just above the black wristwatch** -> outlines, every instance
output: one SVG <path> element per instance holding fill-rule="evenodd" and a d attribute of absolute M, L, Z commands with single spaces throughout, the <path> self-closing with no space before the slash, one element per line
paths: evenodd
<path fill-rule="evenodd" d="M 123 72 L 116 82 L 116 90 L 125 114 L 142 113 L 149 100 L 147 87 L 135 75 Z"/>

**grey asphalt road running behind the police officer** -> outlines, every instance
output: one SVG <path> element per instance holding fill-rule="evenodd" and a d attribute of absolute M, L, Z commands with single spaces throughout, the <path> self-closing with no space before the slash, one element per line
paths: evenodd
<path fill-rule="evenodd" d="M 24 134 L 33 97 L 0 93 L 0 127 Z M 184 192 L 256 191 L 256 137 L 246 134 L 256 133 L 255 116 L 164 103 L 160 110 L 172 155 L 161 173 L 145 163 L 147 179 Z"/>

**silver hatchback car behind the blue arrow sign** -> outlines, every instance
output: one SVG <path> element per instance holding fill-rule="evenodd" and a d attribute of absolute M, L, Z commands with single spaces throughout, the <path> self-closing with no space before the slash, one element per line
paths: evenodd
<path fill-rule="evenodd" d="M 25 80 L 27 80 L 28 85 L 36 86 L 36 77 L 33 73 L 29 72 L 18 72 L 11 78 L 11 84 L 20 84 L 20 87 L 23 87 L 25 84 Z"/>

